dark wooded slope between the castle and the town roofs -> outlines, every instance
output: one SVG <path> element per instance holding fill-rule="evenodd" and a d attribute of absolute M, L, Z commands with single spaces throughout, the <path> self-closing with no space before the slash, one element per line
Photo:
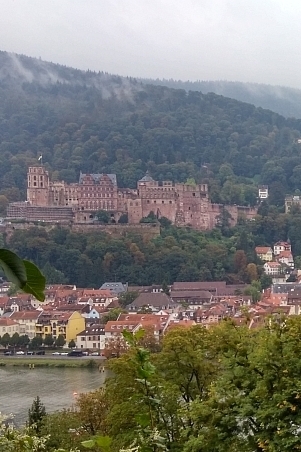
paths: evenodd
<path fill-rule="evenodd" d="M 113 238 L 106 233 L 74 233 L 57 227 L 50 232 L 34 228 L 15 231 L 4 243 L 22 258 L 34 261 L 48 283 L 100 287 L 105 281 L 130 285 L 168 284 L 174 281 L 225 280 L 266 287 L 255 246 L 272 245 L 289 238 L 295 263 L 301 268 L 301 215 L 279 214 L 259 208 L 254 221 L 240 220 L 235 228 L 221 222 L 208 232 L 170 226 L 164 219 L 161 235 L 153 240 L 128 234 Z M 1 236 L 0 236 L 1 245 Z"/>

